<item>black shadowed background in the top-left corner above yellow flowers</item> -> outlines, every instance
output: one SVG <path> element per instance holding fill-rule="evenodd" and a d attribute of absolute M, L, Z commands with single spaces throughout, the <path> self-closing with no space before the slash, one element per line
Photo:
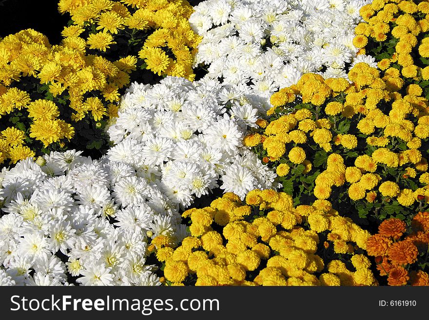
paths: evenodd
<path fill-rule="evenodd" d="M 201 0 L 189 0 L 197 5 Z M 0 0 L 0 38 L 23 29 L 34 29 L 51 44 L 59 44 L 70 16 L 58 12 L 58 0 Z"/>

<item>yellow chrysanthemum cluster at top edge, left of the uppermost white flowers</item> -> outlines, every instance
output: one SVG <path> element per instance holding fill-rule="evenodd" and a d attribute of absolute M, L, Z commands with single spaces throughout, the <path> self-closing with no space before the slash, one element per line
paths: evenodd
<path fill-rule="evenodd" d="M 195 78 L 192 63 L 200 37 L 189 25 L 192 6 L 187 1 L 60 0 L 59 11 L 70 13 L 74 21 L 62 32 L 67 43 L 105 52 L 117 43 L 121 32 L 133 39 L 136 32 L 146 31 L 148 36 L 138 52 L 146 69 L 157 75 Z M 93 32 L 83 37 L 85 28 L 91 27 Z M 137 56 L 127 59 L 137 62 Z"/>

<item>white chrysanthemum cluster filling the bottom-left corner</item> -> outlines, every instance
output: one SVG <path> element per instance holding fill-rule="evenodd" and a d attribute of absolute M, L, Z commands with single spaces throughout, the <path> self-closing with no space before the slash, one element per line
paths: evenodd
<path fill-rule="evenodd" d="M 175 205 L 131 166 L 80 153 L 2 169 L 1 285 L 160 284 L 147 243 L 187 236 Z"/>

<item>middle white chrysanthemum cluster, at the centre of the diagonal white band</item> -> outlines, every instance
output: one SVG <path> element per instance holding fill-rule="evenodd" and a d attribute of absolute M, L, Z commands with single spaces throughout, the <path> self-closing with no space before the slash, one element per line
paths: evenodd
<path fill-rule="evenodd" d="M 107 156 L 137 170 L 181 208 L 218 182 L 242 199 L 254 188 L 272 188 L 276 174 L 242 145 L 261 108 L 250 91 L 213 79 L 134 83 L 108 129 L 116 145 Z"/>

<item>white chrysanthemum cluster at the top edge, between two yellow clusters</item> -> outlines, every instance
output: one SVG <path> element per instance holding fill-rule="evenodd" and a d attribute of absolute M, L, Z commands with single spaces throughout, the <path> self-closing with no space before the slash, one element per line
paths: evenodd
<path fill-rule="evenodd" d="M 373 57 L 353 46 L 359 9 L 369 0 L 207 0 L 190 18 L 203 37 L 196 65 L 209 78 L 249 84 L 259 101 L 309 72 L 346 77 L 347 66 Z"/>

